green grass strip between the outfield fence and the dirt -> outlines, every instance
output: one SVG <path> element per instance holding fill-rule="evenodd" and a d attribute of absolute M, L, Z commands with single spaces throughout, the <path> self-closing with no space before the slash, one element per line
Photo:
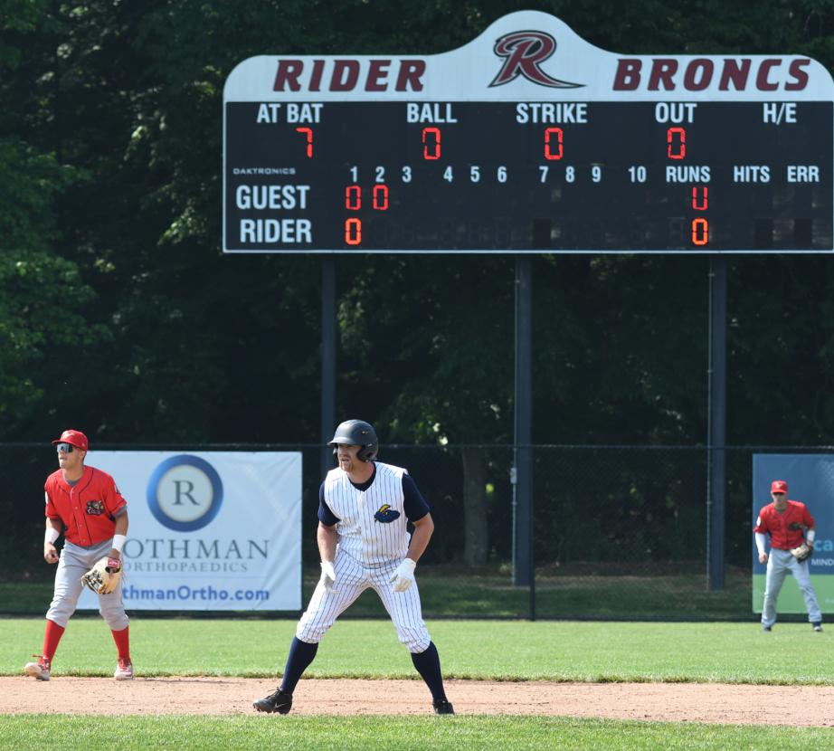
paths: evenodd
<path fill-rule="evenodd" d="M 460 679 L 834 685 L 834 629 L 801 623 L 429 622 L 444 674 Z M 130 634 L 137 673 L 268 678 L 283 669 L 294 620 L 142 619 Z M 41 650 L 42 618 L 0 619 L 0 674 Z M 112 675 L 100 618 L 74 618 L 53 675 Z M 774 654 L 784 659 L 774 660 Z M 417 680 L 388 621 L 339 621 L 308 669 L 317 678 Z"/>

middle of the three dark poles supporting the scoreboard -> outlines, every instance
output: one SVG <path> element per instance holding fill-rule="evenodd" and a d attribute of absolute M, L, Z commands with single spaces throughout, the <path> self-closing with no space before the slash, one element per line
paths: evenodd
<path fill-rule="evenodd" d="M 516 259 L 516 394 L 513 483 L 513 579 L 530 588 L 530 620 L 535 621 L 533 556 L 533 272 L 528 255 Z"/>

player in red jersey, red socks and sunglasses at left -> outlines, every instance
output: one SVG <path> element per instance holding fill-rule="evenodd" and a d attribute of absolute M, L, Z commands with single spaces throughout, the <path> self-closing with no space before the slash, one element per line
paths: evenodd
<path fill-rule="evenodd" d="M 46 491 L 46 533 L 43 557 L 58 564 L 55 591 L 46 613 L 43 653 L 27 662 L 26 675 L 49 680 L 52 657 L 61 641 L 84 585 L 81 576 L 103 556 L 121 560 L 128 532 L 128 502 L 118 492 L 107 472 L 84 465 L 89 444 L 81 431 L 66 430 L 52 443 L 58 452 L 60 469 L 52 472 L 43 486 Z M 64 534 L 61 556 L 55 540 Z M 133 678 L 128 639 L 128 614 L 121 598 L 121 582 L 110 594 L 99 594 L 99 610 L 113 633 L 118 650 L 116 680 Z"/>

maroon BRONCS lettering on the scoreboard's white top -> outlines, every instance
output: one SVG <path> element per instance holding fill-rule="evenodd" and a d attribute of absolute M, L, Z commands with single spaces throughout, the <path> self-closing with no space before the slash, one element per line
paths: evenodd
<path fill-rule="evenodd" d="M 808 65 L 808 58 L 793 58 L 790 62 L 780 57 L 766 58 L 753 65 L 750 58 L 699 57 L 684 67 L 675 58 L 653 58 L 649 62 L 622 58 L 617 62 L 613 90 L 703 91 L 717 83 L 719 91 L 801 91 L 808 86 L 808 73 L 804 70 Z"/>

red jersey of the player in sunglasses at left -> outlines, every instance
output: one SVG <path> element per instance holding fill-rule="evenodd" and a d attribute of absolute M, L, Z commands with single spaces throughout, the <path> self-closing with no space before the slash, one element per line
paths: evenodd
<path fill-rule="evenodd" d="M 62 521 L 64 536 L 74 545 L 93 547 L 113 537 L 116 517 L 128 505 L 107 472 L 84 467 L 81 480 L 70 485 L 57 470 L 46 478 L 46 516 Z"/>

